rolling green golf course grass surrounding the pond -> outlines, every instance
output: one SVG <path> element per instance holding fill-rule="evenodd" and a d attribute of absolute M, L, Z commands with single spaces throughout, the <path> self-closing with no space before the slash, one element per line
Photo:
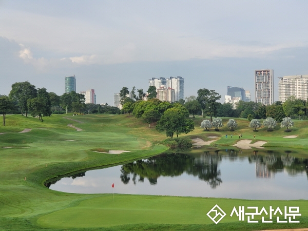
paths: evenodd
<path fill-rule="evenodd" d="M 2 120 L 2 118 L 0 117 Z M 226 124 L 230 118 L 222 118 Z M 265 149 L 296 149 L 308 158 L 308 121 L 294 120 L 291 132 L 278 123 L 274 131 L 266 127 L 254 132 L 247 119 L 234 118 L 238 127 L 231 132 L 226 126 L 204 131 L 196 116 L 195 130 L 179 137 L 213 140 L 200 149 L 234 148 L 241 140 L 263 142 Z M 226 134 L 228 137 L 226 138 Z M 230 138 L 230 135 L 233 138 Z M 255 135 L 255 138 L 254 138 Z M 285 136 L 294 138 L 288 139 Z M 162 144 L 164 132 L 149 127 L 129 114 L 87 114 L 72 116 L 52 114 L 37 118 L 20 114 L 7 115 L 0 127 L 0 230 L 263 230 L 308 227 L 306 200 L 242 200 L 227 198 L 172 197 L 149 195 L 70 194 L 54 191 L 44 182 L 80 171 L 105 168 L 156 156 L 169 148 Z M 249 145 L 246 145 L 249 146 Z M 253 147 L 253 150 L 255 147 Z M 245 148 L 244 148 L 245 149 Z M 125 151 L 109 153 L 109 151 Z M 305 166 L 303 167 L 304 170 Z M 198 190 L 198 189 L 195 189 Z M 114 197 L 114 200 L 113 200 Z M 215 224 L 207 213 L 215 205 L 227 214 Z M 284 208 L 300 207 L 300 223 L 258 223 L 230 217 L 239 206 Z M 269 215 L 262 215 L 265 220 Z M 279 216 L 284 219 L 284 216 Z"/>

